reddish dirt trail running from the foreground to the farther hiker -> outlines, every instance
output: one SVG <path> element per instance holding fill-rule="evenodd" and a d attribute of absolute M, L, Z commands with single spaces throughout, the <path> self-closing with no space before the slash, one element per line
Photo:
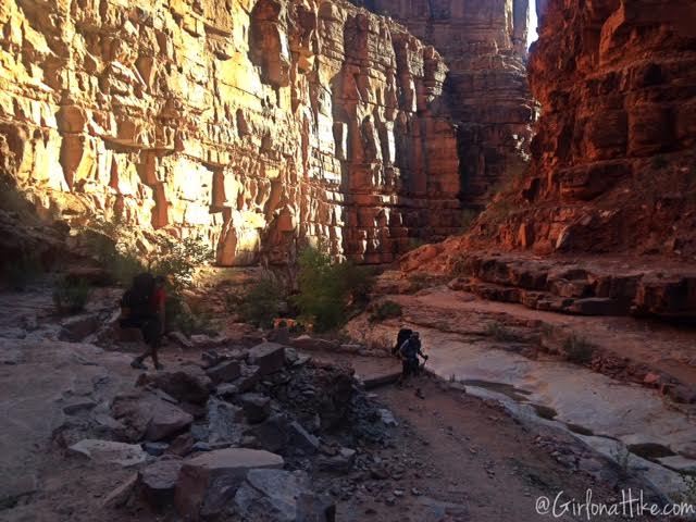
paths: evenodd
<path fill-rule="evenodd" d="M 312 356 L 351 364 L 361 375 L 374 376 L 398 368 L 398 362 L 390 359 Z M 415 396 L 417 388 L 423 399 Z M 442 520 L 532 522 L 550 518 L 536 511 L 539 497 L 554 498 L 564 492 L 566 500 L 583 501 L 592 489 L 598 502 L 617 500 L 617 470 L 608 461 L 558 431 L 521 424 L 494 400 L 470 396 L 426 375 L 403 388 L 381 386 L 374 389 L 374 396 L 400 423 L 394 447 L 381 453 L 382 458 L 400 462 L 411 459 L 415 465 L 403 478 L 391 481 L 387 487 L 381 485 L 384 499 L 394 498 L 395 489 L 405 492 L 394 506 L 365 501 L 357 495 L 339 504 L 340 521 L 440 520 L 430 519 L 431 511 L 423 511 L 423 504 L 430 501 L 449 513 Z M 601 468 L 604 476 L 597 476 L 594 472 Z M 552 520 L 577 519 L 566 513 Z"/>

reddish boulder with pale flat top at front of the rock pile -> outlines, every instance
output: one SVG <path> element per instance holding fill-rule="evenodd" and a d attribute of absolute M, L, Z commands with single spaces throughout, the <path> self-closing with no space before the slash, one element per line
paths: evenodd
<path fill-rule="evenodd" d="M 235 497 L 249 470 L 281 469 L 284 463 L 278 455 L 247 448 L 199 455 L 181 469 L 174 494 L 176 510 L 194 521 L 217 514 Z"/>

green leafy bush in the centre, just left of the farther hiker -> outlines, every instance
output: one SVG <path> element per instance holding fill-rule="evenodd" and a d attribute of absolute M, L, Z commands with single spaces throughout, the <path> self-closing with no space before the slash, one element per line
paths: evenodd
<path fill-rule="evenodd" d="M 321 249 L 303 249 L 299 257 L 299 294 L 293 296 L 300 319 L 320 332 L 340 326 L 349 307 L 368 299 L 372 275 L 371 270 L 351 263 L 332 263 Z"/>

